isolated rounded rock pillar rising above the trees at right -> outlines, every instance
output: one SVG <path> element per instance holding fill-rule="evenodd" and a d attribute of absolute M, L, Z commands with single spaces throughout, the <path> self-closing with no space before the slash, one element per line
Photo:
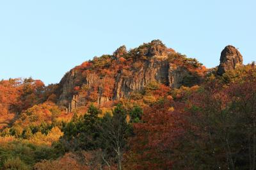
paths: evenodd
<path fill-rule="evenodd" d="M 217 73 L 218 75 L 223 75 L 227 70 L 234 70 L 239 65 L 243 65 L 243 56 L 236 47 L 228 45 L 221 52 Z"/>

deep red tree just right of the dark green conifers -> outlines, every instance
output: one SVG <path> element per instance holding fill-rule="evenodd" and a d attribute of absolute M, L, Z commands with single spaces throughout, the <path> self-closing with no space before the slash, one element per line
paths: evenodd
<path fill-rule="evenodd" d="M 127 155 L 131 169 L 172 169 L 175 160 L 170 153 L 180 144 L 186 123 L 180 112 L 168 111 L 168 107 L 167 101 L 148 107 L 142 123 L 134 123 L 136 136 L 130 141 L 131 151 Z"/>

